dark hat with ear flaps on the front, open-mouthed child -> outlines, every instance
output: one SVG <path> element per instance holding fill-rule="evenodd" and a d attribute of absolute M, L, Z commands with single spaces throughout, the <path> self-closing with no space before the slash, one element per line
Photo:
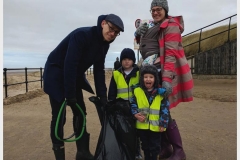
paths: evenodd
<path fill-rule="evenodd" d="M 143 81 L 144 74 L 152 74 L 152 75 L 154 75 L 155 82 L 154 82 L 153 87 L 157 88 L 158 87 L 158 83 L 159 83 L 157 67 L 155 67 L 154 65 L 145 65 L 144 67 L 141 68 L 141 70 L 140 70 L 140 87 L 143 90 L 146 89 L 146 87 L 144 85 L 144 81 Z"/>

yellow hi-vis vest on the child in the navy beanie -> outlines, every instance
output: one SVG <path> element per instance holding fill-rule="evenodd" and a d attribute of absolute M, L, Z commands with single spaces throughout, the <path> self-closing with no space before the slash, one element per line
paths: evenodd
<path fill-rule="evenodd" d="M 127 85 L 123 74 L 119 71 L 113 72 L 113 77 L 117 85 L 117 98 L 129 100 L 132 97 L 132 86 L 139 83 L 139 71 L 136 72 L 136 77 L 131 77 Z"/>

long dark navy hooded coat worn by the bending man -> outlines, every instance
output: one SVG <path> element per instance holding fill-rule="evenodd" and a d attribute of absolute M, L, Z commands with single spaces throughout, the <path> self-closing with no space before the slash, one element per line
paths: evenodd
<path fill-rule="evenodd" d="M 72 31 L 49 54 L 44 68 L 44 91 L 61 102 L 75 98 L 76 91 L 93 93 L 85 78 L 86 70 L 93 65 L 97 96 L 106 96 L 104 63 L 109 44 L 104 41 L 101 22 L 107 15 L 98 17 L 97 26 Z"/>

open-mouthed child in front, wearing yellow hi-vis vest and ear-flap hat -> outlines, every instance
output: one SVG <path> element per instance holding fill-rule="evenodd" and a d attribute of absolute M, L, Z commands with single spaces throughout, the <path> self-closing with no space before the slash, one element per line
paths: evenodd
<path fill-rule="evenodd" d="M 140 70 L 140 87 L 130 99 L 131 111 L 137 119 L 136 128 L 142 142 L 145 160 L 157 160 L 161 149 L 161 132 L 168 126 L 169 103 L 158 88 L 158 71 L 153 65 Z"/>

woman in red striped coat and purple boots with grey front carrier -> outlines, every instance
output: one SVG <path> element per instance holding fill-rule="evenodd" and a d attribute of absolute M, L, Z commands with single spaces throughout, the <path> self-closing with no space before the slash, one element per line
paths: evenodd
<path fill-rule="evenodd" d="M 168 13 L 167 0 L 152 0 L 150 14 L 153 26 L 148 27 L 147 23 L 140 25 L 135 37 L 140 43 L 143 62 L 151 62 L 150 65 L 158 68 L 160 86 L 166 89 L 164 97 L 171 109 L 180 102 L 193 100 L 193 78 L 182 46 L 183 17 Z M 167 130 L 162 133 L 159 158 L 186 159 L 177 123 L 170 113 Z"/>

